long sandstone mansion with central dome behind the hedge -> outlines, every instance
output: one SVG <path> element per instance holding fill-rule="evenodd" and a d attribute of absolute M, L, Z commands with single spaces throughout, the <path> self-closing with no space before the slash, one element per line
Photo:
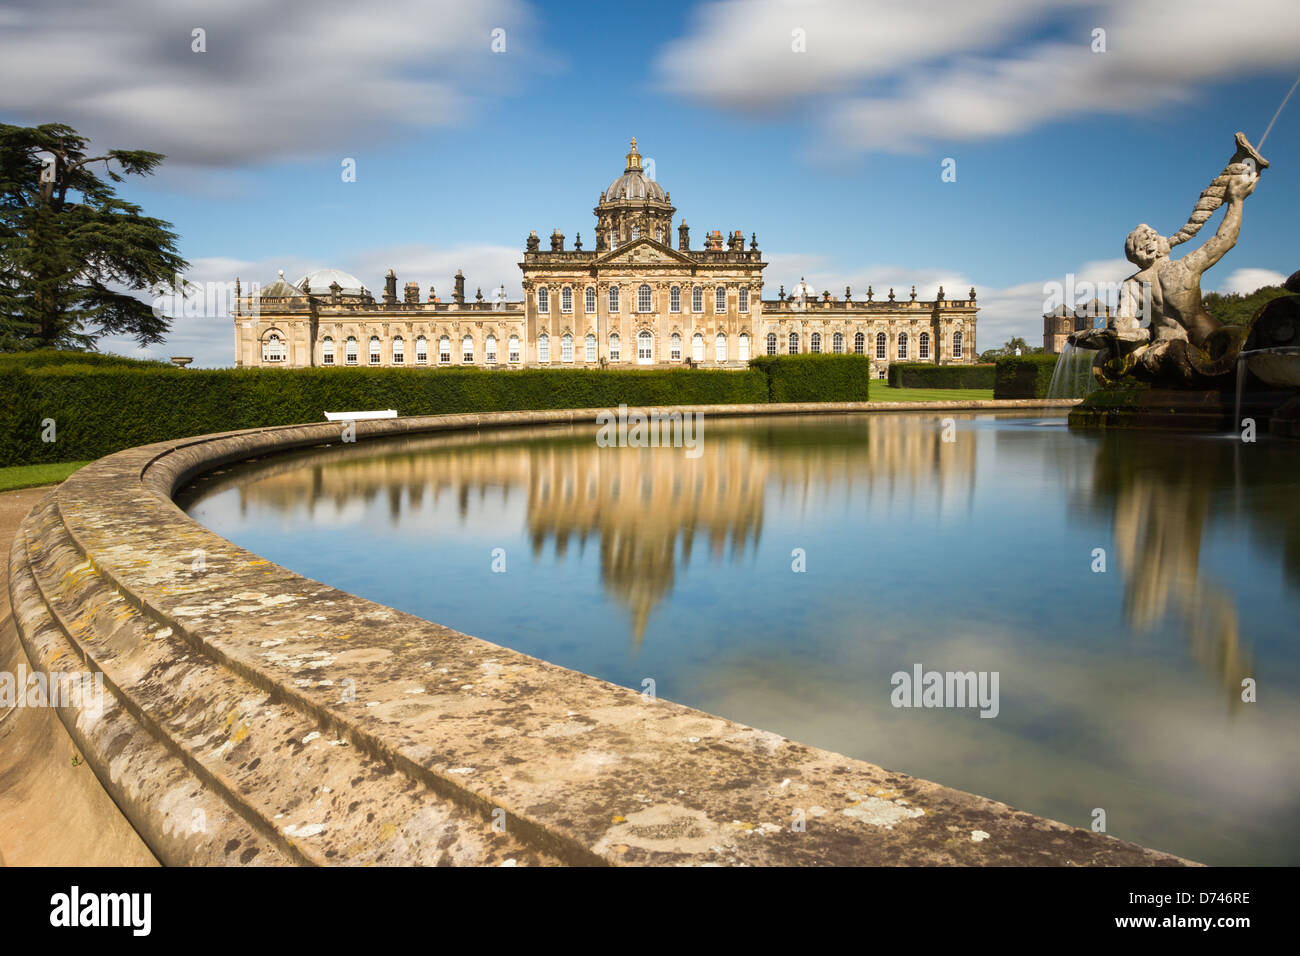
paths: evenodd
<path fill-rule="evenodd" d="M 391 269 L 376 299 L 337 269 L 289 282 L 283 273 L 243 294 L 235 284 L 235 364 L 478 365 L 484 368 L 637 365 L 741 367 L 754 355 L 857 352 L 879 377 L 890 362 L 970 363 L 976 355 L 975 290 L 949 299 L 818 295 L 802 280 L 763 299 L 757 237 L 715 229 L 692 248 L 685 221 L 672 245 L 671 195 L 646 176 L 636 139 L 623 176 L 595 206 L 595 248 L 581 238 L 550 248 L 537 233 L 524 250 L 523 300 L 504 289 L 465 298 L 456 273 L 450 300 Z"/>

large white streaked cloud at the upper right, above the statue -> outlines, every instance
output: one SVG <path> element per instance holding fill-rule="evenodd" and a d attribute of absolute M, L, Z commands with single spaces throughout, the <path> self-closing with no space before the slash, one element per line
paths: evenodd
<path fill-rule="evenodd" d="M 1061 20 L 1049 38 L 1044 13 Z M 792 29 L 807 31 L 806 53 L 792 51 Z M 1106 52 L 1092 51 L 1093 29 L 1106 31 Z M 723 108 L 807 99 L 826 152 L 910 152 L 1145 113 L 1204 82 L 1294 66 L 1297 35 L 1294 0 L 1260 0 L 1243 16 L 1214 0 L 725 0 L 656 66 L 664 88 Z"/>

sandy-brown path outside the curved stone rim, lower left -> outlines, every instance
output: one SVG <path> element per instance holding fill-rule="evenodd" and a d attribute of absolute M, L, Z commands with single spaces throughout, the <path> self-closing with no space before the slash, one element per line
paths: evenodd
<path fill-rule="evenodd" d="M 49 488 L 0 494 L 0 671 L 31 672 L 9 607 L 9 545 Z M 73 760 L 77 763 L 73 763 Z M 0 864 L 156 866 L 49 708 L 0 708 Z"/>

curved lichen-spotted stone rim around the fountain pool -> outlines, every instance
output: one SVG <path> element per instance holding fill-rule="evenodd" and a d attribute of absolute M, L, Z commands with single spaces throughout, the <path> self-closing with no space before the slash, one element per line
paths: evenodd
<path fill-rule="evenodd" d="M 597 411 L 355 429 L 364 441 L 594 428 Z M 27 654 L 48 671 L 103 672 L 101 710 L 58 713 L 162 862 L 1186 865 L 365 601 L 235 546 L 172 501 L 200 472 L 339 437 L 328 423 L 129 449 L 69 477 L 14 538 Z"/>

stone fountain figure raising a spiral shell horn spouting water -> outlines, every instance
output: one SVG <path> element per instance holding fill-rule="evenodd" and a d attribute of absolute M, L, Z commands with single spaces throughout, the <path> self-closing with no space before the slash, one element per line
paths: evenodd
<path fill-rule="evenodd" d="M 1210 316 L 1201 302 L 1201 274 L 1236 245 L 1245 199 L 1268 165 L 1238 133 L 1236 152 L 1178 233 L 1166 238 L 1143 222 L 1128 234 L 1124 255 L 1138 272 L 1121 287 L 1113 324 L 1069 338 L 1071 345 L 1097 350 L 1093 375 L 1100 381 L 1132 375 L 1161 385 L 1204 388 L 1232 373 L 1248 330 Z M 1195 237 L 1225 202 L 1218 232 L 1182 259 L 1171 259 L 1173 247 Z"/>

